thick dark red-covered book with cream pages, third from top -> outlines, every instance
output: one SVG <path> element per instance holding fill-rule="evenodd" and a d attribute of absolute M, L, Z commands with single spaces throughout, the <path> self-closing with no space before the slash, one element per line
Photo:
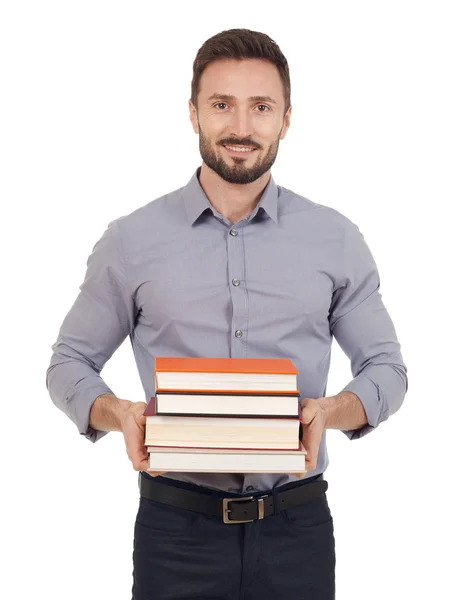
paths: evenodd
<path fill-rule="evenodd" d="M 201 448 L 297 449 L 300 439 L 301 406 L 298 416 L 195 417 L 156 414 L 155 398 L 144 415 L 145 445 Z"/>

